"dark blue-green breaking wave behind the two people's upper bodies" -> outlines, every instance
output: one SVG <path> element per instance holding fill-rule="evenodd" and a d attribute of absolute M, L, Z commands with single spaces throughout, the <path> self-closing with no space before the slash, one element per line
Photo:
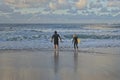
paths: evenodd
<path fill-rule="evenodd" d="M 61 35 L 64 40 L 71 40 L 73 34 Z M 50 34 L 29 34 L 29 35 L 11 35 L 3 36 L 0 40 L 4 41 L 27 41 L 27 40 L 50 40 Z M 81 39 L 118 39 L 120 40 L 120 35 L 90 35 L 90 34 L 79 34 L 78 38 Z"/>

